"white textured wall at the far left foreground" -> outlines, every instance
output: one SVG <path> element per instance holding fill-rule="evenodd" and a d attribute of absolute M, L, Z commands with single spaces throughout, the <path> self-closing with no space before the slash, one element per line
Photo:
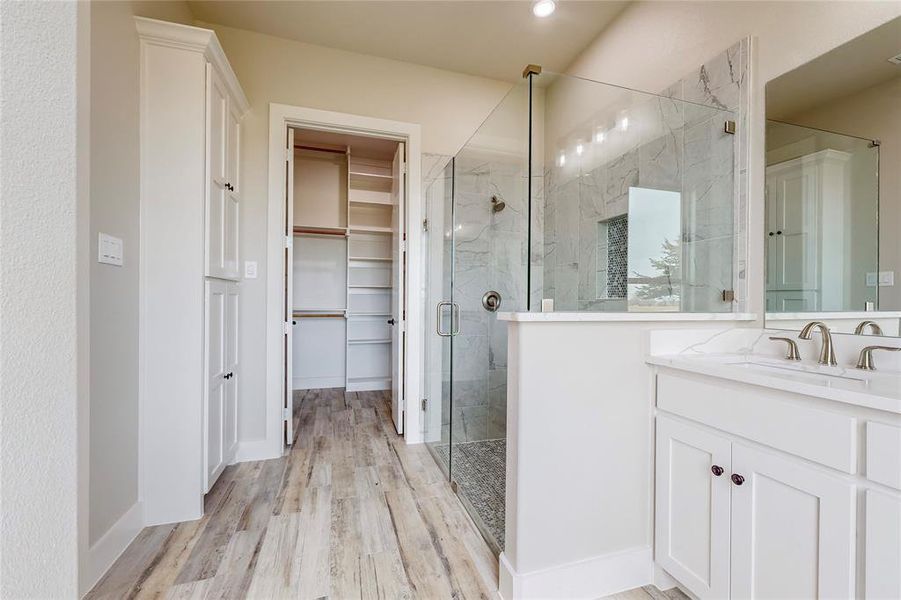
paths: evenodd
<path fill-rule="evenodd" d="M 89 21 L 0 3 L 0 597 L 78 591 Z"/>

